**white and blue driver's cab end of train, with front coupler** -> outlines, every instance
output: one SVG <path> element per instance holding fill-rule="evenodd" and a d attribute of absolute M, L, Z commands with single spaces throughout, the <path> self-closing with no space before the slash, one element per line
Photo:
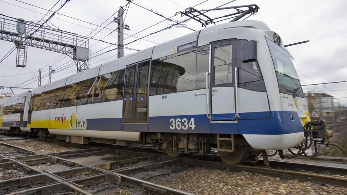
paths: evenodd
<path fill-rule="evenodd" d="M 281 37 L 262 22 L 235 25 L 199 36 L 199 44 L 204 39 L 211 43 L 206 101 L 211 133 L 217 135 L 208 147 L 214 146 L 223 161 L 236 164 L 255 162 L 260 153 L 267 161 L 266 150 L 293 158 L 318 138 L 329 144 L 332 133 L 324 122 L 310 121 Z M 292 147 L 299 149 L 296 155 L 283 154 Z"/>

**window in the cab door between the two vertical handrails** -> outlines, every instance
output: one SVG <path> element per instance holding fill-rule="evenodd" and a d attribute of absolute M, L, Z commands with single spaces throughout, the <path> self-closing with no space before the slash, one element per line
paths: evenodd
<path fill-rule="evenodd" d="M 232 44 L 214 48 L 214 85 L 232 83 Z"/>

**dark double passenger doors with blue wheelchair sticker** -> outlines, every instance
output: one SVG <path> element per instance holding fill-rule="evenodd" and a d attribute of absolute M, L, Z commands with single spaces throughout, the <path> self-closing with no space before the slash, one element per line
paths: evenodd
<path fill-rule="evenodd" d="M 148 131 L 148 71 L 150 60 L 126 67 L 123 130 Z"/>

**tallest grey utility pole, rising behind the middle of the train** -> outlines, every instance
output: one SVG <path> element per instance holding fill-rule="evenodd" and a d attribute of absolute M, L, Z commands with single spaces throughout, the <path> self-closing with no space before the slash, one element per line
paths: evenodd
<path fill-rule="evenodd" d="M 129 30 L 128 25 L 124 25 L 124 19 L 123 19 L 124 9 L 120 6 L 118 10 L 118 17 L 113 19 L 113 22 L 118 24 L 117 31 L 118 31 L 118 43 L 117 43 L 117 58 L 121 58 L 124 56 L 124 33 L 123 30 L 127 29 Z"/>

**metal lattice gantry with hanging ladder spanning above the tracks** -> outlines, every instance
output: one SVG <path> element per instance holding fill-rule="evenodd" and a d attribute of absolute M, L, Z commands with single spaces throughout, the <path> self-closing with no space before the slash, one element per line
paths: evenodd
<path fill-rule="evenodd" d="M 90 68 L 89 38 L 73 33 L 60 31 L 37 24 L 25 22 L 23 19 L 7 19 L 0 17 L 0 40 L 14 42 L 17 47 L 16 66 L 25 67 L 27 46 L 64 53 L 76 63 L 77 72 Z M 29 32 L 26 32 L 26 30 Z"/>

